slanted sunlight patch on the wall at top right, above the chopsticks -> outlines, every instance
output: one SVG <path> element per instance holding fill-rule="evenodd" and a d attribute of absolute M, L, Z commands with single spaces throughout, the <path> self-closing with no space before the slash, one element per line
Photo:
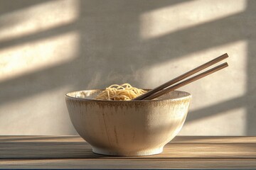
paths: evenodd
<path fill-rule="evenodd" d="M 186 1 L 174 6 L 147 11 L 140 16 L 143 40 L 198 26 L 245 11 L 246 1 Z"/>

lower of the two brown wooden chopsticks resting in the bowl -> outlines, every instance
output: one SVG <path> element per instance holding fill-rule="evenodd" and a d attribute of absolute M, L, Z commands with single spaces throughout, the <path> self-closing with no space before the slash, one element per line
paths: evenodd
<path fill-rule="evenodd" d="M 203 77 L 206 77 L 208 76 L 209 74 L 213 74 L 214 72 L 217 72 L 218 70 L 220 69 L 224 69 L 225 67 L 228 67 L 228 63 L 225 62 L 223 64 L 220 64 L 218 65 L 217 67 L 214 67 L 213 69 L 209 69 L 207 70 L 206 72 L 203 72 L 201 74 L 198 74 L 196 75 L 195 77 L 191 77 L 190 79 L 186 79 L 184 81 L 181 81 L 180 83 L 178 84 L 174 84 L 173 86 L 169 86 L 168 88 L 166 89 L 163 89 L 161 91 L 158 91 L 156 92 L 155 94 L 152 94 L 151 96 L 148 96 L 146 98 L 144 98 L 144 100 L 151 100 L 151 99 L 154 99 L 154 98 L 157 98 L 159 96 L 162 96 L 164 94 L 167 94 L 169 93 L 170 91 L 174 91 L 175 89 L 178 89 L 180 88 L 181 86 L 185 86 L 186 84 L 190 84 L 191 82 L 193 81 L 196 81 L 198 79 L 201 79 Z"/>

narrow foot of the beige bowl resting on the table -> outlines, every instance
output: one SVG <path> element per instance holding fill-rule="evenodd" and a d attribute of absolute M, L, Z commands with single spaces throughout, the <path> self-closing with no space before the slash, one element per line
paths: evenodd
<path fill-rule="evenodd" d="M 104 154 L 109 156 L 146 156 L 152 154 L 160 154 L 163 152 L 164 147 L 157 147 L 151 149 L 144 149 L 140 151 L 128 152 L 122 150 L 110 150 L 110 149 L 102 149 L 98 147 L 92 147 L 92 152 L 95 154 Z"/>

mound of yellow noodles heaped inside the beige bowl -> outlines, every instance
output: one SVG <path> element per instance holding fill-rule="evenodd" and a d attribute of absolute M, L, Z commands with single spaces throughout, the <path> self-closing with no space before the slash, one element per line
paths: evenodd
<path fill-rule="evenodd" d="M 102 91 L 95 99 L 105 101 L 130 101 L 144 93 L 146 93 L 146 91 L 137 89 L 130 84 L 113 84 Z"/>

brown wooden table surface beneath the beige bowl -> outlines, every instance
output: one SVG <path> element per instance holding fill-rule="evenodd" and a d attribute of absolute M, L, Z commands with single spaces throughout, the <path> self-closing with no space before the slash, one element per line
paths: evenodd
<path fill-rule="evenodd" d="M 256 137 L 178 136 L 146 157 L 92 153 L 78 136 L 0 136 L 0 169 L 256 169 Z"/>

